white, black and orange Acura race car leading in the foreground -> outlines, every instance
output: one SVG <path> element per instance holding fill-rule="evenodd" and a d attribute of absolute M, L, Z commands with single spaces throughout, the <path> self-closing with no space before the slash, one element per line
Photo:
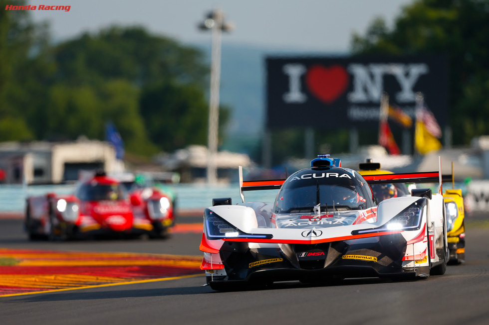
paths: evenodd
<path fill-rule="evenodd" d="M 433 181 L 439 172 L 372 175 L 321 155 L 286 180 L 244 182 L 243 203 L 205 209 L 201 269 L 214 290 L 275 281 L 348 277 L 421 279 L 445 273 L 443 196 L 431 189 L 375 203 L 369 184 Z M 275 202 L 245 202 L 243 191 L 279 189 Z"/>

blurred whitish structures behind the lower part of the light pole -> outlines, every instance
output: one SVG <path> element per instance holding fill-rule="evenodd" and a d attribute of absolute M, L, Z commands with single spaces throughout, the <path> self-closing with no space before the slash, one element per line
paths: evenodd
<path fill-rule="evenodd" d="M 172 154 L 157 158 L 163 169 L 180 174 L 182 183 L 204 183 L 206 181 L 208 150 L 203 145 L 191 145 Z M 218 151 L 216 155 L 219 183 L 238 180 L 238 167 L 249 167 L 249 156 L 242 153 Z"/>

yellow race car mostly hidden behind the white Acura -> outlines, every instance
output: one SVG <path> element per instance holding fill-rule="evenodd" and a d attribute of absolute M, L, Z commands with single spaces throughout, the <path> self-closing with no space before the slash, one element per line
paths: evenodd
<path fill-rule="evenodd" d="M 380 163 L 374 163 L 372 162 L 372 159 L 367 159 L 366 162 L 360 163 L 359 173 L 362 176 L 393 174 L 390 171 L 380 169 Z M 409 194 L 407 186 L 399 183 L 373 184 L 371 185 L 371 188 L 377 203 L 386 199 Z M 447 216 L 447 239 L 450 250 L 450 263 L 461 264 L 465 262 L 465 213 L 462 190 L 446 190 L 443 194 L 443 199 L 445 201 L 445 211 Z"/>

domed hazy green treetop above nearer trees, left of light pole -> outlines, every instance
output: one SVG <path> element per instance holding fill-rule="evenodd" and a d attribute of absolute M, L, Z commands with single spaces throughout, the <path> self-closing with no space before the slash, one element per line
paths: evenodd
<path fill-rule="evenodd" d="M 59 77 L 73 85 L 126 79 L 144 87 L 159 82 L 207 82 L 203 53 L 143 27 L 112 26 L 56 46 Z"/>

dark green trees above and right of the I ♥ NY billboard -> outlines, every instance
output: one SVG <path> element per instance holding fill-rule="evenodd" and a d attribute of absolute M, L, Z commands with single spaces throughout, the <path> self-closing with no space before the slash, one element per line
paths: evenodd
<path fill-rule="evenodd" d="M 354 34 L 354 54 L 447 53 L 450 121 L 456 144 L 489 134 L 489 1 L 417 0 L 389 29 L 375 19 L 365 35 Z"/>

